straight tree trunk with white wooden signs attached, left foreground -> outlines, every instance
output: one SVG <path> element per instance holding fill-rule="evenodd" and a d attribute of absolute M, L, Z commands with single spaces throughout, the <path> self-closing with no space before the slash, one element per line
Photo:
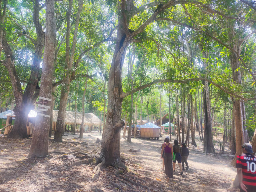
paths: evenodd
<path fill-rule="evenodd" d="M 40 96 L 52 98 L 53 66 L 56 46 L 56 22 L 54 15 L 54 0 L 46 0 L 46 36 L 45 49 L 42 67 L 42 81 Z M 50 106 L 50 101 L 46 104 Z M 50 111 L 40 112 L 49 115 Z M 50 118 L 39 116 L 35 122 L 34 134 L 31 141 L 29 157 L 45 157 L 48 154 L 48 136 Z"/>

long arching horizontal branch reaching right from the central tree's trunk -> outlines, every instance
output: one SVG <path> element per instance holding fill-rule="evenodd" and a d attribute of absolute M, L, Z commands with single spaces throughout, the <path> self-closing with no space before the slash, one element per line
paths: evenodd
<path fill-rule="evenodd" d="M 238 94 L 236 94 L 236 93 L 233 93 L 233 92 L 229 91 L 227 88 L 222 87 L 221 85 L 218 85 L 217 83 L 215 83 L 215 82 L 213 82 L 213 81 L 211 81 L 211 80 L 209 80 L 209 79 L 207 79 L 207 78 L 191 78 L 191 79 L 184 79 L 184 80 L 156 79 L 156 80 L 154 80 L 154 81 L 152 81 L 152 82 L 150 82 L 150 83 L 147 83 L 147 84 L 145 84 L 145 85 L 142 85 L 142 86 L 140 86 L 140 87 L 137 87 L 136 89 L 133 89 L 133 90 L 128 91 L 128 92 L 126 92 L 126 93 L 123 92 L 123 93 L 120 95 L 120 97 L 121 97 L 121 98 L 125 98 L 125 97 L 127 97 L 128 95 L 131 95 L 131 94 L 133 94 L 133 93 L 136 93 L 137 91 L 142 90 L 142 89 L 145 89 L 145 88 L 147 88 L 147 87 L 150 87 L 151 85 L 156 84 L 156 83 L 184 83 L 184 84 L 187 84 L 187 83 L 189 83 L 190 81 L 207 81 L 207 82 L 213 84 L 215 87 L 218 87 L 220 90 L 222 90 L 223 92 L 225 92 L 225 93 L 227 93 L 227 94 L 229 94 L 229 95 L 233 95 L 233 96 L 235 96 L 236 98 L 240 98 L 240 99 L 246 100 L 244 97 L 242 97 L 242 96 L 240 96 L 240 95 L 238 95 Z"/>

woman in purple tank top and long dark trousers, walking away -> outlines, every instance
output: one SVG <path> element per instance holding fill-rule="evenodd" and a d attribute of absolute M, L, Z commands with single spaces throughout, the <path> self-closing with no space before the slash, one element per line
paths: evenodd
<path fill-rule="evenodd" d="M 165 142 L 162 144 L 162 151 L 161 151 L 161 157 L 160 159 L 162 159 L 162 155 L 164 152 L 164 166 L 165 166 L 165 174 L 167 179 L 169 178 L 173 178 L 173 171 L 172 171 L 172 153 L 173 153 L 173 149 L 172 149 L 172 144 L 170 143 L 170 136 L 166 136 L 165 137 Z"/>

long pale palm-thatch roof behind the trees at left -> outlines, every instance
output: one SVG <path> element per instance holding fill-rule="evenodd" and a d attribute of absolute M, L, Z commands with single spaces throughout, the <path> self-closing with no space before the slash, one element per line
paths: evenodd
<path fill-rule="evenodd" d="M 53 122 L 57 122 L 58 117 L 57 110 L 53 110 Z M 76 112 L 76 124 L 81 125 L 82 124 L 82 117 L 83 113 Z M 69 125 L 75 124 L 75 112 L 74 111 L 66 111 L 66 118 L 65 123 Z M 100 126 L 101 120 L 94 115 L 93 113 L 85 113 L 84 114 L 84 125 L 90 126 Z"/>

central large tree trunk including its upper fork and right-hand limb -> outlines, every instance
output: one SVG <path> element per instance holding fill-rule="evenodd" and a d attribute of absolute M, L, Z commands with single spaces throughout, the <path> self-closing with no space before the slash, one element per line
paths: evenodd
<path fill-rule="evenodd" d="M 128 30 L 130 14 L 133 15 L 133 11 L 136 8 L 134 7 L 133 0 L 121 1 L 116 46 L 109 72 L 106 131 L 103 133 L 101 145 L 101 152 L 105 158 L 105 164 L 107 165 L 114 165 L 116 167 L 123 166 L 120 159 L 120 129 L 124 126 L 124 121 L 121 120 L 121 107 L 125 96 L 121 96 L 123 93 L 121 74 L 127 45 L 137 34 L 143 32 L 145 27 L 149 25 L 161 11 L 175 5 L 175 3 L 176 1 L 168 1 L 158 6 L 156 11 L 154 11 L 146 22 L 136 31 L 130 33 Z"/>

